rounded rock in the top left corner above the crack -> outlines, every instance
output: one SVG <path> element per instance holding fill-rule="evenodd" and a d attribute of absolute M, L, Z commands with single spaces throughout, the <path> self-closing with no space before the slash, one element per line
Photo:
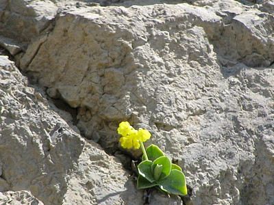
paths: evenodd
<path fill-rule="evenodd" d="M 52 1 L 0 1 L 0 35 L 30 42 L 47 28 L 58 12 Z"/>

